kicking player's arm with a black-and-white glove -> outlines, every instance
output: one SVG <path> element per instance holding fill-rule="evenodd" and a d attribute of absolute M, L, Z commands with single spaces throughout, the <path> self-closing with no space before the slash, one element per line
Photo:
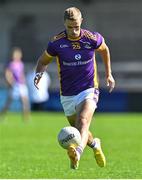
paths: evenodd
<path fill-rule="evenodd" d="M 48 64 L 52 61 L 52 56 L 50 56 L 47 51 L 44 51 L 43 54 L 39 57 L 37 61 L 37 66 L 36 66 L 36 75 L 34 78 L 34 85 L 37 89 L 38 83 L 44 73 L 44 71 L 47 69 Z"/>

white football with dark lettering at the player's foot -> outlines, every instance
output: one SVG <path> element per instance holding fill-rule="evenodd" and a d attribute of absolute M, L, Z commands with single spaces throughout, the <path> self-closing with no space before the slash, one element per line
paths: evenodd
<path fill-rule="evenodd" d="M 78 146 L 81 143 L 80 132 L 72 126 L 64 127 L 58 134 L 58 142 L 64 149 L 67 149 L 71 144 Z"/>

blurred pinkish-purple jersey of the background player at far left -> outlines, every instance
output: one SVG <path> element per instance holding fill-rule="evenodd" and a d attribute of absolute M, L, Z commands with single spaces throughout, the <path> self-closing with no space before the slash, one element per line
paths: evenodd
<path fill-rule="evenodd" d="M 24 76 L 24 64 L 21 61 L 11 61 L 8 68 L 13 74 L 16 83 L 23 84 L 25 82 Z"/>

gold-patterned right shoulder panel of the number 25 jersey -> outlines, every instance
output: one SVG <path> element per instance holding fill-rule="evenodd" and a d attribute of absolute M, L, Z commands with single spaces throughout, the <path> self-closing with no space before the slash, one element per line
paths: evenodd
<path fill-rule="evenodd" d="M 87 30 L 87 29 L 82 29 L 82 33 L 83 33 L 83 36 L 90 39 L 90 40 L 94 40 L 94 41 L 97 41 L 97 38 L 98 38 L 98 35 L 99 33 L 98 32 L 92 32 L 90 30 Z"/>

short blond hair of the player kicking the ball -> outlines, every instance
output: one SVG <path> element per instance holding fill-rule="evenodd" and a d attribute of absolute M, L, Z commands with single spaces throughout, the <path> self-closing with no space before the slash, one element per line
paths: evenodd
<path fill-rule="evenodd" d="M 78 17 L 82 18 L 81 11 L 76 7 L 70 7 L 64 12 L 64 21 L 65 20 L 76 20 Z"/>

